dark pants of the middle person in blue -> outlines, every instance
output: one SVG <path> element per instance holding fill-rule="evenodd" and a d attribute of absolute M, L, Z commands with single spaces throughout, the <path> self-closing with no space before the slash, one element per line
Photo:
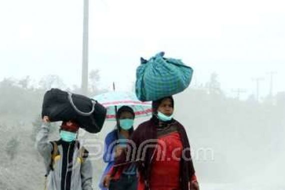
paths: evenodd
<path fill-rule="evenodd" d="M 118 180 L 111 180 L 109 190 L 136 190 L 137 177 L 136 175 L 121 174 Z"/>

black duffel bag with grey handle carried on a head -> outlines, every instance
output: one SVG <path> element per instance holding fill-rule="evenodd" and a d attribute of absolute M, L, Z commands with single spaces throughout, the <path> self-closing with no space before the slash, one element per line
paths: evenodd
<path fill-rule="evenodd" d="M 41 117 L 52 121 L 77 122 L 91 133 L 99 132 L 104 124 L 106 109 L 94 99 L 84 95 L 51 88 L 43 97 Z"/>

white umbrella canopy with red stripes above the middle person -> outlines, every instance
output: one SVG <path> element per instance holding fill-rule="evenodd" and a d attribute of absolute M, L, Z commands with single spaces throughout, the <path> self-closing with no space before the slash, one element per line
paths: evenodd
<path fill-rule="evenodd" d="M 151 115 L 151 102 L 139 101 L 132 92 L 112 91 L 102 93 L 93 97 L 107 109 L 107 120 L 115 120 L 115 106 L 117 108 L 127 105 L 130 106 L 135 117 L 143 117 Z"/>

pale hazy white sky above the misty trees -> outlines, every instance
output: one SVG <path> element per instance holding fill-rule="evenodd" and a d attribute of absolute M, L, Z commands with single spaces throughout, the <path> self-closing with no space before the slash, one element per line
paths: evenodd
<path fill-rule="evenodd" d="M 205 82 L 212 71 L 222 88 L 261 95 L 285 90 L 283 0 L 89 0 L 89 68 L 102 85 L 126 89 L 139 57 L 163 50 L 194 68 Z M 57 74 L 80 84 L 83 0 L 1 0 L 0 79 Z"/>

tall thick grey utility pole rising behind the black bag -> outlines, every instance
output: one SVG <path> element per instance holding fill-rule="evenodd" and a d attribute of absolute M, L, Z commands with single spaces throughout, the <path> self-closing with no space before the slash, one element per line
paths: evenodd
<path fill-rule="evenodd" d="M 87 95 L 87 93 L 88 93 L 88 14 L 89 14 L 89 0 L 84 0 L 84 5 L 83 5 L 82 76 L 81 76 L 81 92 L 84 95 Z"/>

